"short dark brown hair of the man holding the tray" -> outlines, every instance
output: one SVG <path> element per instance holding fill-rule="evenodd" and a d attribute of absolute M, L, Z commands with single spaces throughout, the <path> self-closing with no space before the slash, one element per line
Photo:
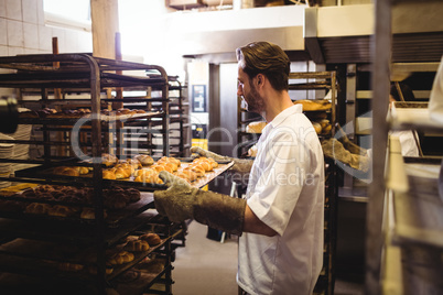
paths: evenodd
<path fill-rule="evenodd" d="M 252 42 L 236 50 L 237 61 L 249 76 L 263 74 L 275 90 L 289 89 L 291 62 L 284 51 L 269 42 Z"/>

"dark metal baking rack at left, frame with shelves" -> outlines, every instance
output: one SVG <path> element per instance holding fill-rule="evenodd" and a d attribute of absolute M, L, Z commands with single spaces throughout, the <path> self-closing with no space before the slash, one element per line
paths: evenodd
<path fill-rule="evenodd" d="M 156 65 L 145 65 L 139 63 L 129 63 L 122 61 L 107 59 L 95 57 L 90 54 L 42 54 L 42 55 L 21 55 L 21 56 L 6 56 L 0 57 L 0 68 L 10 69 L 10 73 L 0 74 L 0 87 L 7 88 L 18 88 L 21 94 L 26 92 L 29 89 L 40 89 L 40 99 L 37 101 L 24 101 L 21 97 L 20 102 L 26 102 L 28 105 L 39 103 L 40 107 L 47 107 L 54 103 L 55 106 L 62 106 L 71 103 L 76 106 L 77 103 L 87 103 L 90 107 L 93 118 L 89 120 L 88 125 L 80 130 L 85 132 L 86 141 L 82 143 L 82 146 L 88 148 L 90 154 L 94 157 L 101 156 L 102 152 L 107 152 L 109 146 L 114 142 L 110 142 L 110 138 L 115 134 L 115 130 L 119 128 L 111 127 L 112 123 L 130 120 L 139 120 L 141 122 L 147 122 L 154 118 L 160 118 L 162 132 L 162 151 L 164 155 L 169 155 L 169 77 L 165 70 L 161 66 Z M 117 72 L 125 74 L 115 74 Z M 133 72 L 144 72 L 145 75 L 140 76 L 139 74 L 131 74 Z M 128 87 L 128 88 L 140 88 L 140 89 L 156 89 L 161 92 L 160 105 L 161 110 L 141 116 L 133 116 L 131 118 L 120 117 L 110 118 L 100 114 L 102 108 L 104 94 L 109 94 L 117 88 Z M 55 97 L 54 89 L 63 89 L 66 91 L 85 91 L 87 94 L 87 99 L 83 101 L 77 101 L 69 99 L 61 99 Z M 107 97 L 109 98 L 109 97 Z M 112 103 L 115 101 L 107 100 L 105 102 Z M 60 156 L 54 153 L 54 148 L 57 145 L 69 144 L 69 139 L 63 139 L 61 141 L 53 141 L 51 138 L 51 132 L 66 131 L 67 128 L 76 122 L 76 118 L 21 118 L 20 123 L 25 124 L 39 124 L 42 125 L 41 130 L 43 132 L 43 139 L 41 141 L 26 141 L 18 142 L 11 141 L 12 143 L 20 144 L 40 144 L 43 149 L 42 160 L 44 167 L 52 167 L 57 165 L 67 164 L 68 162 L 61 162 L 60 160 L 71 159 L 72 155 Z M 57 128 L 60 128 L 57 130 Z M 65 129 L 65 130 L 63 130 Z M 108 132 L 108 134 L 104 134 Z M 114 146 L 119 146 L 121 142 L 118 139 L 111 139 L 117 142 Z M 21 161 L 14 161 L 9 159 L 2 159 L 3 163 L 18 163 Z M 39 163 L 39 161 L 32 160 L 29 162 Z M 40 162 L 40 164 L 41 164 Z M 105 188 L 109 183 L 101 177 L 101 164 L 93 163 L 93 175 L 89 177 L 90 182 L 73 182 L 72 178 L 50 178 L 42 176 L 40 171 L 36 168 L 34 173 L 24 176 L 20 176 L 20 172 L 17 173 L 14 177 L 1 177 L 1 181 L 8 182 L 30 182 L 30 183 L 51 183 L 57 185 L 87 185 L 94 187 L 94 208 L 96 214 L 96 219 L 94 225 L 89 223 L 75 223 L 75 222 L 57 222 L 54 220 L 39 220 L 36 222 L 35 218 L 8 218 L 4 216 L 0 220 L 0 231 L 2 237 L 9 237 L 11 239 L 22 237 L 34 240 L 64 241 L 66 243 L 88 243 L 89 247 L 94 247 L 96 261 L 97 261 L 97 275 L 91 277 L 91 287 L 97 292 L 96 294 L 105 294 L 107 285 L 109 285 L 110 278 L 105 274 L 105 250 L 112 243 L 118 242 L 118 239 L 126 237 L 132 230 L 139 229 L 141 226 L 149 223 L 153 220 L 152 215 L 147 215 L 145 209 L 152 208 L 153 203 L 143 203 L 141 207 L 136 208 L 136 210 L 130 210 L 132 212 L 131 217 L 119 220 L 118 227 L 109 228 L 104 218 L 104 200 L 102 200 L 102 188 Z M 17 217 L 17 216 L 15 216 Z M 166 223 L 168 226 L 168 223 Z M 172 236 L 170 236 L 172 237 Z M 165 242 L 162 248 L 165 249 L 166 264 L 165 275 L 171 278 L 171 238 L 166 237 Z M 144 253 L 148 255 L 149 253 Z M 8 255 L 6 255 L 8 256 Z M 10 256 L 8 256 L 10 258 Z M 140 256 L 142 259 L 142 256 Z M 24 265 L 24 264 L 23 264 Z M 46 264 L 41 264 L 39 270 L 26 270 L 22 264 L 14 265 L 2 265 L 1 269 L 4 272 L 29 274 L 31 276 L 39 276 L 43 274 L 45 277 L 51 277 L 53 280 L 56 276 L 52 276 L 50 273 L 54 273 L 44 266 Z M 48 265 L 46 265 L 48 266 Z M 46 273 L 46 271 L 48 271 Z M 61 274 L 60 276 L 66 276 L 67 280 L 75 278 L 73 273 Z M 55 284 L 55 283 L 54 283 Z M 165 293 L 171 292 L 172 280 L 165 283 Z"/>

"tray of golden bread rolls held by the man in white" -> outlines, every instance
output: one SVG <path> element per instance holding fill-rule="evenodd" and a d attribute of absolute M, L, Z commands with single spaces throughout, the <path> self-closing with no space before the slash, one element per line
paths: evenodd
<path fill-rule="evenodd" d="M 119 160 L 112 154 L 101 155 L 102 178 L 106 185 L 133 187 L 139 190 L 154 192 L 166 189 L 159 177 L 161 171 L 168 171 L 185 181 L 194 187 L 203 187 L 215 177 L 233 166 L 234 162 L 218 161 L 210 157 L 179 159 L 163 156 L 154 160 L 150 155 L 134 155 L 126 160 Z M 19 177 L 35 177 L 40 175 L 45 179 L 64 179 L 67 182 L 91 182 L 91 167 L 66 166 L 45 167 L 37 166 L 22 170 L 15 173 Z"/>

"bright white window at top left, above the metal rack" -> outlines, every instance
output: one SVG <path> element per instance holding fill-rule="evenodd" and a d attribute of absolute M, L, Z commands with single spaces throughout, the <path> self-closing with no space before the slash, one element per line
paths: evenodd
<path fill-rule="evenodd" d="M 45 24 L 90 32 L 90 0 L 43 0 Z"/>

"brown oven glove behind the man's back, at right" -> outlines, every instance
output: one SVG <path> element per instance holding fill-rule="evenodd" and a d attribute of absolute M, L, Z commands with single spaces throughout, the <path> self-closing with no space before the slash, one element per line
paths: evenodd
<path fill-rule="evenodd" d="M 369 156 L 354 154 L 346 150 L 342 142 L 336 139 L 328 139 L 322 142 L 322 149 L 325 156 L 339 161 L 352 166 L 355 170 L 367 172 L 369 170 Z"/>

